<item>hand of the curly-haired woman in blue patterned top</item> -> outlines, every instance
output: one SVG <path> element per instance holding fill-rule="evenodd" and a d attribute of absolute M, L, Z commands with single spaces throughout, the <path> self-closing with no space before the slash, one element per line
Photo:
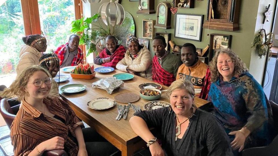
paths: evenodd
<path fill-rule="evenodd" d="M 245 142 L 245 135 L 241 131 L 233 131 L 230 132 L 229 135 L 235 135 L 235 139 L 231 142 L 231 146 L 233 150 L 236 150 L 239 148 L 239 152 L 241 152 L 244 148 L 244 142 Z"/>

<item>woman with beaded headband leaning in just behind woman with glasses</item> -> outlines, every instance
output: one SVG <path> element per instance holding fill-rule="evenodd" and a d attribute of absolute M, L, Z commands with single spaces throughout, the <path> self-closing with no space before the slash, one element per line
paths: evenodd
<path fill-rule="evenodd" d="M 50 73 L 52 76 L 52 86 L 49 95 L 50 96 L 59 96 L 59 84 L 57 84 L 56 81 L 54 81 L 54 77 L 57 75 L 58 71 L 60 70 L 60 64 L 59 64 L 59 58 L 53 54 L 45 54 L 40 58 L 39 65 Z M 60 72 L 59 72 L 59 81 L 60 81 Z"/>

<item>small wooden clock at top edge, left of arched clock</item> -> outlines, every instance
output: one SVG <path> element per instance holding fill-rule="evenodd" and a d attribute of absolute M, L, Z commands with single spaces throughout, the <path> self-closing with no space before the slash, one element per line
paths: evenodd
<path fill-rule="evenodd" d="M 154 0 L 139 0 L 139 10 L 137 14 L 155 14 L 154 10 Z"/>

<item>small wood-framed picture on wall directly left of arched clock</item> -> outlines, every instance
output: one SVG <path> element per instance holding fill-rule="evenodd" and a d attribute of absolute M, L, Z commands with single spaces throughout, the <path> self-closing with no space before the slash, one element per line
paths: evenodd
<path fill-rule="evenodd" d="M 142 37 L 153 39 L 154 37 L 154 20 L 143 20 L 142 22 Z"/>

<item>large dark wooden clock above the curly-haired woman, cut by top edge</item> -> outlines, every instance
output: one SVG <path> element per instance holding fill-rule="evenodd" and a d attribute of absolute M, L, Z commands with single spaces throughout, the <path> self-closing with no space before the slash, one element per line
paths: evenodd
<path fill-rule="evenodd" d="M 236 31 L 239 30 L 240 0 L 208 0 L 208 10 L 203 28 Z"/>

